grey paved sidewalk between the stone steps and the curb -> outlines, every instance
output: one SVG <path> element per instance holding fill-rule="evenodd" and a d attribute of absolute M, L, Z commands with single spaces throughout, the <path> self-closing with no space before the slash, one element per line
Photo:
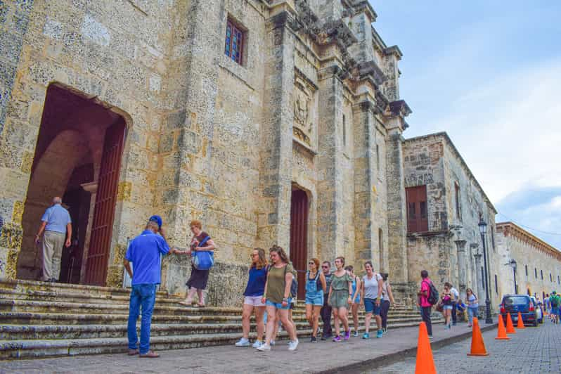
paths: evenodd
<path fill-rule="evenodd" d="M 493 326 L 489 326 L 493 328 Z M 434 325 L 433 345 L 462 340 L 470 333 L 465 323 L 445 330 Z M 0 362 L 0 373 L 319 373 L 361 372 L 415 354 L 418 328 L 389 330 L 381 339 L 309 343 L 302 337 L 296 352 L 281 341 L 271 352 L 252 348 L 205 347 L 160 352 L 160 359 L 138 359 L 126 354 L 62 357 Z"/>

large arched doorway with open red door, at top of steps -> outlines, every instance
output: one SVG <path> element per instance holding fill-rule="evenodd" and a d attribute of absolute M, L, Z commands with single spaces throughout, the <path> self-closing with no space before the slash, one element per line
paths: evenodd
<path fill-rule="evenodd" d="M 105 284 L 125 129 L 112 110 L 49 85 L 22 217 L 18 278 L 41 278 L 42 249 L 34 235 L 60 196 L 72 217 L 72 245 L 63 250 L 59 281 Z"/>

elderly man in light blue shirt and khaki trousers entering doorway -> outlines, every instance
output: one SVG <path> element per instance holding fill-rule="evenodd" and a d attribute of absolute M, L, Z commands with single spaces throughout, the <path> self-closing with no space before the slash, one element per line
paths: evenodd
<path fill-rule="evenodd" d="M 53 198 L 53 205 L 47 208 L 41 217 L 41 226 L 35 236 L 35 243 L 39 243 L 41 234 L 44 232 L 43 280 L 47 282 L 58 282 L 63 246 L 70 247 L 72 239 L 70 213 L 63 208 L 62 202 L 63 200 L 58 196 Z"/>

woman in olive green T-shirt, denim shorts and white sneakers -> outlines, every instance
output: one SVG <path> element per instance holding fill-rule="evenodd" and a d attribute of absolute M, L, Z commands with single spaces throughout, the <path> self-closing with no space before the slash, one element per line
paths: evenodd
<path fill-rule="evenodd" d="M 267 281 L 265 283 L 265 293 L 262 302 L 265 303 L 267 311 L 267 328 L 265 344 L 261 344 L 258 351 L 270 351 L 271 339 L 275 325 L 280 322 L 290 337 L 288 350 L 294 351 L 298 347 L 298 338 L 296 336 L 295 326 L 290 323 L 288 318 L 288 309 L 290 307 L 290 285 L 292 284 L 292 265 L 288 263 L 288 256 L 283 248 L 273 245 L 269 250 L 272 266 L 267 273 Z"/>

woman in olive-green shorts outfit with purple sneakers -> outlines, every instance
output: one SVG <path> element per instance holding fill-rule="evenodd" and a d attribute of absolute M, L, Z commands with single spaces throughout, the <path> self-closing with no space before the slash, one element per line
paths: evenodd
<path fill-rule="evenodd" d="M 333 341 L 340 342 L 341 340 L 349 340 L 349 337 L 351 337 L 347 314 L 349 313 L 349 304 L 353 303 L 351 298 L 353 280 L 351 276 L 349 276 L 349 273 L 343 269 L 344 257 L 337 257 L 335 259 L 335 266 L 337 267 L 337 271 L 335 271 L 331 277 L 328 301 L 331 307 L 333 307 L 333 322 L 335 324 L 335 337 Z M 344 327 L 343 338 L 339 335 L 340 321 L 343 323 Z"/>

